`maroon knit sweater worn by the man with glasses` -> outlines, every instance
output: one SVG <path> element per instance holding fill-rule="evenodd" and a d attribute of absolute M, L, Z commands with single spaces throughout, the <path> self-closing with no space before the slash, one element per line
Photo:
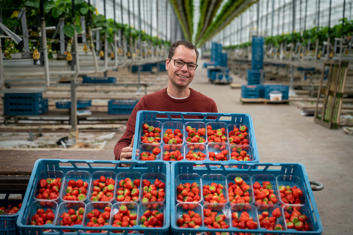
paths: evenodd
<path fill-rule="evenodd" d="M 185 99 L 173 99 L 167 94 L 166 88 L 152 94 L 144 95 L 134 107 L 126 123 L 126 130 L 114 147 L 115 160 L 119 160 L 121 149 L 128 147 L 135 134 L 136 114 L 140 110 L 164 112 L 208 112 L 217 113 L 213 99 L 189 88 L 191 93 Z M 201 118 L 201 117 L 200 117 Z M 138 136 L 135 136 L 138 138 Z"/>

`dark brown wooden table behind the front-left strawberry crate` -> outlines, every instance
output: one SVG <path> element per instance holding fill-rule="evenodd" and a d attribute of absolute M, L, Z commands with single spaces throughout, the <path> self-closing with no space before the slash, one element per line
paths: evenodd
<path fill-rule="evenodd" d="M 115 160 L 113 151 L 0 151 L 0 189 L 25 190 L 38 159 Z"/>

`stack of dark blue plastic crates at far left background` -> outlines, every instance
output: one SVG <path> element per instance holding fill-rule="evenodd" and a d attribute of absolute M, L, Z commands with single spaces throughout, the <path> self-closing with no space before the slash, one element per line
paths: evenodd
<path fill-rule="evenodd" d="M 40 115 L 48 111 L 48 99 L 42 93 L 5 93 L 4 115 Z"/>

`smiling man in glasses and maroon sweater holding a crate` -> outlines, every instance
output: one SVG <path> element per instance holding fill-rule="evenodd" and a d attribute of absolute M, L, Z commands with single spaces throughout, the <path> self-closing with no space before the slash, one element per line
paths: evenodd
<path fill-rule="evenodd" d="M 209 112 L 217 113 L 213 99 L 189 88 L 199 52 L 186 40 L 173 42 L 166 61 L 168 87 L 152 94 L 144 95 L 134 107 L 126 123 L 126 130 L 114 147 L 115 160 L 131 160 L 136 114 L 139 110 L 170 112 Z M 136 150 L 138 152 L 138 149 Z M 138 156 L 138 153 L 136 153 Z"/>

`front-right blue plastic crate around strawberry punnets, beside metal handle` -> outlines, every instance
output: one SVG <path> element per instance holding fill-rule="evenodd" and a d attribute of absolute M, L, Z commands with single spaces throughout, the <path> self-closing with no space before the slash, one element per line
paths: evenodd
<path fill-rule="evenodd" d="M 310 182 L 306 173 L 305 166 L 300 163 L 249 163 L 249 162 L 237 162 L 237 163 L 229 163 L 229 162 L 217 162 L 218 166 L 214 166 L 214 162 L 205 162 L 203 163 L 203 167 L 197 167 L 197 161 L 195 162 L 173 162 L 170 168 L 170 188 L 171 188 L 171 206 L 170 206 L 170 226 L 174 235 L 182 235 L 182 234 L 195 234 L 201 232 L 227 232 L 227 233 L 251 233 L 251 234 L 266 234 L 269 233 L 269 230 L 265 228 L 258 229 L 238 229 L 233 228 L 231 224 L 228 229 L 209 229 L 205 226 L 201 226 L 197 229 L 192 228 L 179 228 L 176 224 L 177 219 L 181 216 L 183 211 L 180 211 L 180 208 L 177 205 L 176 200 L 176 187 L 177 184 L 183 183 L 186 180 L 189 180 L 189 183 L 197 182 L 200 178 L 205 175 L 210 177 L 212 175 L 219 175 L 219 177 L 215 177 L 215 183 L 221 183 L 222 177 L 226 177 L 226 182 L 228 180 L 234 179 L 235 176 L 241 176 L 244 179 L 247 179 L 247 183 L 254 183 L 255 181 L 270 181 L 275 188 L 277 189 L 279 183 L 280 185 L 296 185 L 298 182 L 292 182 L 292 179 L 300 179 L 299 184 L 297 185 L 303 190 L 303 198 L 305 198 L 305 202 L 303 205 L 300 205 L 300 209 L 305 212 L 305 215 L 309 219 L 310 231 L 297 231 L 294 229 L 282 230 L 280 234 L 298 234 L 298 235 L 319 235 L 323 232 L 323 225 L 319 216 L 319 212 L 315 203 L 315 199 L 311 190 Z M 286 177 L 283 177 L 286 175 Z M 250 177 L 250 178 L 249 178 Z M 180 181 L 180 179 L 184 181 Z M 262 182 L 260 182 L 262 183 Z M 201 180 L 201 185 L 203 181 Z M 252 188 L 252 185 L 250 185 Z M 201 191 L 201 189 L 200 189 Z M 228 192 L 228 185 L 226 185 L 226 192 Z M 202 191 L 200 192 L 202 195 Z M 252 192 L 251 192 L 252 195 Z M 279 193 L 277 192 L 277 196 Z M 179 204 L 180 205 L 180 204 Z M 203 206 L 203 202 L 201 201 L 197 204 L 197 208 Z M 239 205 L 239 204 L 238 204 Z M 279 206 L 277 203 L 274 206 Z M 238 208 L 241 206 L 238 206 Z M 287 209 L 287 206 L 283 206 L 281 208 L 282 216 L 280 221 L 285 221 L 284 218 L 284 210 Z M 196 210 L 197 210 L 196 208 Z M 256 208 L 256 209 L 255 209 Z M 258 211 L 262 210 L 262 206 L 258 206 L 254 202 L 250 203 L 249 214 L 254 219 L 256 219 Z M 202 212 L 202 210 L 200 210 Z M 231 217 L 232 212 L 237 211 L 237 206 L 232 206 L 229 202 L 226 203 L 224 210 L 222 211 L 226 216 Z M 239 211 L 240 213 L 240 211 Z M 203 218 L 203 214 L 201 213 Z M 229 221 L 231 223 L 231 221 Z M 284 227 L 285 228 L 285 227 Z"/>

